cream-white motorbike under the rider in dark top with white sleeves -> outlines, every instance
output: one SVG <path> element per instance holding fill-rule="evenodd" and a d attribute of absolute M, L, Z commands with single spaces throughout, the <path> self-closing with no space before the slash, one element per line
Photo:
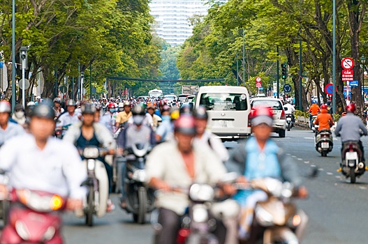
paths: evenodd
<path fill-rule="evenodd" d="M 105 148 L 87 146 L 80 150 L 87 169 L 87 180 L 82 183 L 88 188 L 87 196 L 83 201 L 83 210 L 75 211 L 75 215 L 85 217 L 88 226 L 93 225 L 93 217 L 102 217 L 106 214 L 109 195 L 108 173 L 103 162 L 98 158 L 108 155 Z"/>

